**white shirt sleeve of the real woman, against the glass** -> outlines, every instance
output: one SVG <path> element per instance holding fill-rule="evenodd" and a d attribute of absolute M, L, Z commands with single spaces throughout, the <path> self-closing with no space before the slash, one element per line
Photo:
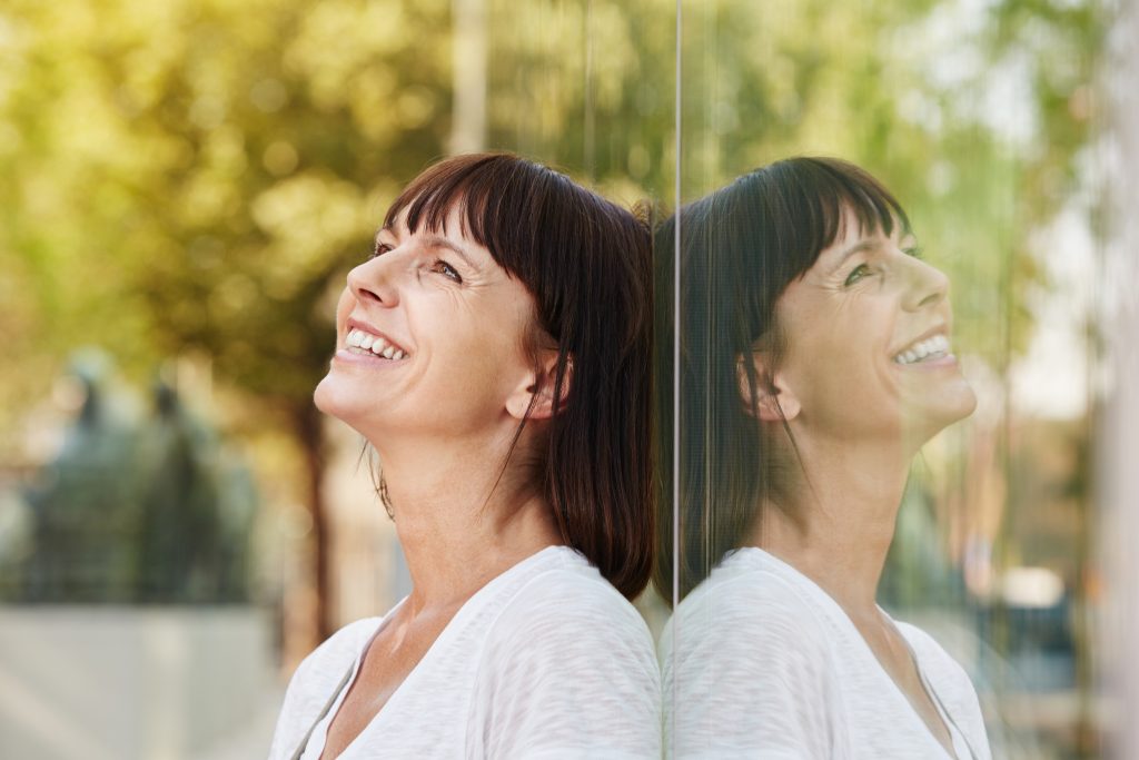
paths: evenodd
<path fill-rule="evenodd" d="M 535 583 L 498 618 L 473 697 L 473 757 L 661 757 L 652 636 L 603 583 Z"/>

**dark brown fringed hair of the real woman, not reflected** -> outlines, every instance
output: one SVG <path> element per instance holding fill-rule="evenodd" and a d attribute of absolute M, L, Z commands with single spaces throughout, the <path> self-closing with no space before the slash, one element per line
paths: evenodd
<path fill-rule="evenodd" d="M 428 167 L 384 224 L 402 214 L 411 232 L 441 231 L 454 207 L 464 235 L 526 286 L 538 327 L 557 344 L 539 473 L 562 539 L 632 598 L 652 571 L 655 513 L 648 224 L 565 174 L 501 153 Z"/>

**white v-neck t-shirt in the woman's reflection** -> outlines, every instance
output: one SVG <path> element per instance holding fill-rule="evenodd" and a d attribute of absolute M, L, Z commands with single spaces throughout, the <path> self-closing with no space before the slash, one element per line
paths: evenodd
<path fill-rule="evenodd" d="M 925 632 L 896 624 L 958 760 L 990 760 L 968 676 Z M 677 758 L 947 757 L 842 607 L 762 549 L 731 553 L 678 605 L 661 665 Z"/>

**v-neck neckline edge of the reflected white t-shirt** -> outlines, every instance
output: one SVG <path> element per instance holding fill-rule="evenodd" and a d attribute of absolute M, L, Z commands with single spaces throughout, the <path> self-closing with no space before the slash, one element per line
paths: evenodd
<path fill-rule="evenodd" d="M 969 747 L 968 739 L 965 737 L 965 734 L 957 726 L 957 722 L 952 719 L 952 717 L 949 716 L 948 710 L 941 703 L 941 700 L 937 697 L 936 690 L 933 688 L 933 685 L 926 677 L 925 670 L 921 668 L 921 662 L 918 657 L 918 654 L 915 651 L 913 646 L 910 644 L 909 638 L 907 638 L 906 634 L 898 626 L 896 621 L 892 616 L 890 616 L 890 614 L 885 610 L 883 610 L 877 604 L 875 605 L 879 614 L 882 614 L 886 620 L 890 621 L 891 626 L 893 626 L 894 630 L 901 637 L 902 643 L 906 646 L 907 652 L 909 653 L 910 661 L 913 663 L 913 669 L 917 671 L 918 680 L 921 683 L 921 689 L 925 692 L 926 697 L 933 704 L 933 708 L 936 711 L 937 717 L 942 722 L 942 726 L 945 728 L 945 733 L 949 734 L 949 741 L 953 747 L 952 752 L 948 751 L 945 749 L 945 745 L 943 745 L 941 741 L 937 738 L 937 735 L 934 734 L 933 730 L 931 730 L 925 719 L 921 718 L 921 713 L 918 712 L 917 706 L 915 706 L 915 704 L 910 701 L 909 696 L 907 696 L 901 685 L 893 679 L 893 677 L 890 675 L 890 671 L 886 670 L 886 667 L 882 664 L 882 660 L 879 660 L 878 655 L 876 655 L 874 653 L 874 649 L 870 648 L 870 644 L 866 640 L 866 637 L 862 636 L 862 632 L 859 631 L 858 626 L 854 624 L 854 621 L 851 619 L 849 614 L 846 614 L 846 611 L 843 610 L 843 606 L 838 604 L 835 597 L 830 596 L 830 594 L 828 594 L 825 588 L 814 582 L 814 580 L 812 580 L 806 573 L 802 572 L 801 570 L 798 570 L 790 563 L 786 562 L 785 559 L 777 557 L 767 549 L 761 549 L 760 547 L 755 546 L 743 547 L 740 549 L 736 549 L 732 554 L 738 554 L 740 551 L 756 553 L 756 556 L 761 558 L 761 562 L 763 562 L 767 565 L 773 566 L 775 570 L 780 572 L 780 574 L 788 575 L 790 580 L 795 582 L 796 586 L 802 587 L 808 594 L 810 594 L 813 597 L 817 597 L 823 606 L 830 607 L 834 613 L 837 613 L 838 619 L 843 621 L 842 624 L 847 626 L 850 629 L 849 632 L 854 635 L 854 638 L 859 643 L 858 645 L 862 648 L 862 654 L 866 657 L 869 657 L 869 661 L 874 663 L 875 670 L 882 676 L 882 678 L 884 678 L 891 685 L 895 697 L 898 700 L 901 700 L 901 702 L 906 704 L 906 708 L 912 716 L 913 720 L 916 720 L 917 725 L 921 727 L 923 733 L 929 738 L 931 742 L 933 742 L 934 746 L 936 746 L 942 751 L 942 754 L 944 754 L 947 758 L 950 758 L 950 760 L 972 760 L 975 758 L 972 747 Z M 969 753 L 967 755 L 961 757 L 960 752 L 958 751 L 960 747 L 958 746 L 957 737 L 954 736 L 954 734 L 960 735 L 961 744 L 964 744 L 966 749 L 969 750 Z"/>

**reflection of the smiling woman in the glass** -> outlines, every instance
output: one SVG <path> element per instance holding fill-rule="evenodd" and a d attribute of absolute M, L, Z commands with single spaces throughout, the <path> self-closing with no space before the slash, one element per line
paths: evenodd
<path fill-rule="evenodd" d="M 975 404 L 916 245 L 834 160 L 680 212 L 681 534 L 657 579 L 687 594 L 662 640 L 678 757 L 989 757 L 964 670 L 875 602 L 910 459 Z"/>

